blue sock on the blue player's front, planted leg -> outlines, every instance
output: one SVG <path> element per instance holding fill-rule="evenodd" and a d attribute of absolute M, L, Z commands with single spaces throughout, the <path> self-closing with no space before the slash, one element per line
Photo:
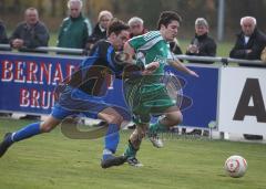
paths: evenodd
<path fill-rule="evenodd" d="M 119 141 L 120 141 L 119 125 L 109 124 L 109 128 L 108 128 L 104 141 L 105 141 L 105 149 L 114 154 L 117 149 Z"/>

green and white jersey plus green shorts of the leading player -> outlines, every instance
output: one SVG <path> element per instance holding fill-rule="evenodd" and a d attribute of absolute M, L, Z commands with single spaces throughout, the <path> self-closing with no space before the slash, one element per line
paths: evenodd
<path fill-rule="evenodd" d="M 136 52 L 137 63 L 147 65 L 156 61 L 160 63 L 160 67 L 152 75 L 125 80 L 126 103 L 135 115 L 161 114 L 175 105 L 162 82 L 164 66 L 167 59 L 171 59 L 170 44 L 163 39 L 160 31 L 151 31 L 135 36 L 129 43 Z"/>

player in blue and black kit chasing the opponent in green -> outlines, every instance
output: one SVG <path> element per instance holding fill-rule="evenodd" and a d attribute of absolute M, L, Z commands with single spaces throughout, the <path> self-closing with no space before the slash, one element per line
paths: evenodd
<path fill-rule="evenodd" d="M 49 117 L 44 122 L 29 124 L 17 132 L 7 133 L 0 144 L 0 157 L 16 141 L 49 133 L 65 117 L 82 113 L 92 118 L 100 118 L 108 124 L 101 162 L 102 168 L 108 168 L 109 160 L 114 158 L 119 145 L 121 124 L 124 119 L 131 119 L 130 113 L 125 109 L 122 109 L 123 114 L 121 114 L 121 109 L 114 108 L 117 106 L 103 101 L 108 91 L 108 75 L 117 76 L 123 73 L 124 65 L 116 61 L 115 51 L 123 49 L 124 43 L 129 40 L 129 25 L 113 19 L 109 24 L 108 40 L 102 40 L 93 46 L 90 56 L 81 63 L 79 70 L 61 90 L 59 99 Z M 126 160 L 124 158 L 116 159 L 117 165 Z M 112 161 L 112 166 L 113 164 Z"/>

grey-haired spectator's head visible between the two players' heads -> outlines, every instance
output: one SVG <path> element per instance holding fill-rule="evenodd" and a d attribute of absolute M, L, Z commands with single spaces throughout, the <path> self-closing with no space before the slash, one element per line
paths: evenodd
<path fill-rule="evenodd" d="M 147 32 L 144 28 L 144 21 L 139 17 L 132 17 L 127 24 L 130 25 L 130 38 L 137 36 Z"/>

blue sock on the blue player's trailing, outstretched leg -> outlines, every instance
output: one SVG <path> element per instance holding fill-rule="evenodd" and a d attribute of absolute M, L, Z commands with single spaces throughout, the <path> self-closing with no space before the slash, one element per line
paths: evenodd
<path fill-rule="evenodd" d="M 12 141 L 20 141 L 41 134 L 40 123 L 30 124 L 18 132 L 12 133 Z"/>

